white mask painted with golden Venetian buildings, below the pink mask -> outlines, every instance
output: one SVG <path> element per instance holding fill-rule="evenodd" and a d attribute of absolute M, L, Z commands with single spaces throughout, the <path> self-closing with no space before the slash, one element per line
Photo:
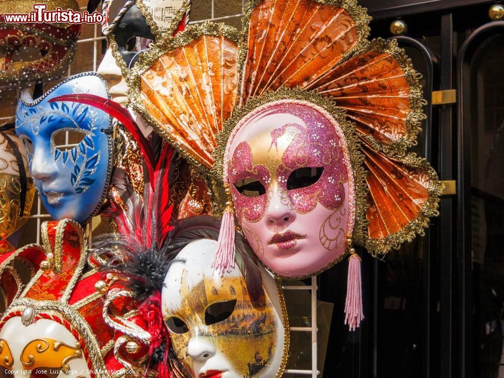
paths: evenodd
<path fill-rule="evenodd" d="M 188 244 L 165 277 L 162 311 L 173 349 L 194 377 L 273 378 L 286 353 L 283 297 L 260 267 L 264 293 L 252 302 L 237 267 L 222 276 L 211 267 L 216 249 L 215 240 Z"/>

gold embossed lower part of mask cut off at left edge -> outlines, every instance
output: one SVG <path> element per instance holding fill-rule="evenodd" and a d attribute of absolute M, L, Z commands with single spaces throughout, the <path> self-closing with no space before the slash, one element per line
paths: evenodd
<path fill-rule="evenodd" d="M 23 226 L 28 217 L 35 197 L 35 186 L 27 177 L 26 203 L 20 214 L 21 182 L 19 176 L 0 173 L 0 238 L 5 239 Z"/>

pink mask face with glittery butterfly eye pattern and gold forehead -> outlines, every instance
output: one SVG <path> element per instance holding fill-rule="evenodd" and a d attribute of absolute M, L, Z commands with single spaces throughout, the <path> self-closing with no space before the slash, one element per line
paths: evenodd
<path fill-rule="evenodd" d="M 269 269 L 304 277 L 341 260 L 354 182 L 345 135 L 327 111 L 299 100 L 268 103 L 239 122 L 226 153 L 238 222 Z"/>

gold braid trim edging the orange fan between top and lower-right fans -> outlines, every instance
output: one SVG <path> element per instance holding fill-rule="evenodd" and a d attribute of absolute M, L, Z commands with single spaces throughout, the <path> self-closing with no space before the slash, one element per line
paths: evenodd
<path fill-rule="evenodd" d="M 422 85 L 420 79 L 422 75 L 413 67 L 411 59 L 406 55 L 406 51 L 399 47 L 397 40 L 384 40 L 382 38 L 373 39 L 371 42 L 365 41 L 355 51 L 354 56 L 362 55 L 367 52 L 377 52 L 390 54 L 398 62 L 401 70 L 404 73 L 406 81 L 409 85 L 409 104 L 410 110 L 406 117 L 406 135 L 391 144 L 379 142 L 370 135 L 363 136 L 363 139 L 376 151 L 381 151 L 388 156 L 395 157 L 404 156 L 406 150 L 417 144 L 417 135 L 422 130 L 421 122 L 427 118 L 423 113 L 423 107 L 427 105 L 427 101 L 423 98 Z M 336 97 L 336 102 L 338 98 Z"/>

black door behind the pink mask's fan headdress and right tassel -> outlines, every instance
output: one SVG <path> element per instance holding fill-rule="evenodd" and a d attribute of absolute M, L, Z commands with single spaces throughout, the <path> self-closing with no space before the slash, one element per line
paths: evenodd
<path fill-rule="evenodd" d="M 357 332 L 343 325 L 345 264 L 321 275 L 320 299 L 335 304 L 324 376 L 504 378 L 504 21 L 488 1 L 359 3 L 371 37 L 397 38 L 422 73 L 428 117 L 415 152 L 457 194 L 425 237 L 384 261 L 363 254 Z M 454 89 L 455 101 L 432 104 L 432 91 Z"/>

